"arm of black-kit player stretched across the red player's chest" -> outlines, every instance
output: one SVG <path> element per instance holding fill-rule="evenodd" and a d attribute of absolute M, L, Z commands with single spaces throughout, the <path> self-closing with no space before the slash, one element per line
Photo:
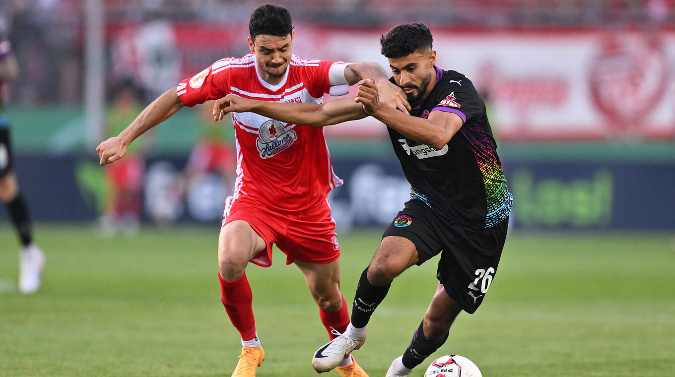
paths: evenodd
<path fill-rule="evenodd" d="M 315 103 L 278 103 L 266 100 L 251 100 L 233 94 L 216 101 L 213 107 L 213 119 L 223 119 L 229 112 L 257 113 L 263 117 L 286 123 L 322 127 L 353 121 L 368 116 L 363 107 L 354 102 L 354 98 L 340 98 L 323 104 Z"/>

